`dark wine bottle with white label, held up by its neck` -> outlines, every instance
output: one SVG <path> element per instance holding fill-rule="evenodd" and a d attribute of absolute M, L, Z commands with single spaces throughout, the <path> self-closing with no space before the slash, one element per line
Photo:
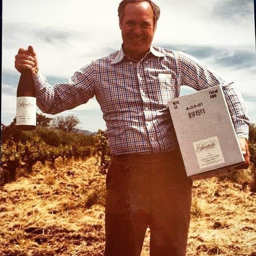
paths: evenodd
<path fill-rule="evenodd" d="M 23 70 L 17 88 L 16 126 L 19 130 L 36 129 L 36 90 L 31 70 Z"/>

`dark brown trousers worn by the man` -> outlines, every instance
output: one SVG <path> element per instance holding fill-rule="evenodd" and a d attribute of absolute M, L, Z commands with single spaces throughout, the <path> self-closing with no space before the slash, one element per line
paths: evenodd
<path fill-rule="evenodd" d="M 192 181 L 180 152 L 112 157 L 106 179 L 105 256 L 185 256 Z"/>

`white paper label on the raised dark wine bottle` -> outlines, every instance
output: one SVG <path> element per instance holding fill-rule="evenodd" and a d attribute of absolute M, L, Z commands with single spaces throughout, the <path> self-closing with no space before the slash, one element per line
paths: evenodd
<path fill-rule="evenodd" d="M 36 125 L 35 97 L 17 97 L 16 125 Z"/>

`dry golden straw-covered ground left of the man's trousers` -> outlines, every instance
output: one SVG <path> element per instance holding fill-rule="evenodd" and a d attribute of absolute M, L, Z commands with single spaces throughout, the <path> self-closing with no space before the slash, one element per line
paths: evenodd
<path fill-rule="evenodd" d="M 94 162 L 38 164 L 2 187 L 0 255 L 102 255 L 105 181 Z"/>

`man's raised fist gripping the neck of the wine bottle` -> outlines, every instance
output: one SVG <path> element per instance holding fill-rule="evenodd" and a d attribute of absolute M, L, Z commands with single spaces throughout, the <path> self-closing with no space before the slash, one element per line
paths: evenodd
<path fill-rule="evenodd" d="M 15 56 L 15 68 L 22 73 L 23 70 L 31 69 L 32 75 L 38 71 L 37 55 L 32 46 L 28 50 L 19 48 L 18 54 Z"/>

